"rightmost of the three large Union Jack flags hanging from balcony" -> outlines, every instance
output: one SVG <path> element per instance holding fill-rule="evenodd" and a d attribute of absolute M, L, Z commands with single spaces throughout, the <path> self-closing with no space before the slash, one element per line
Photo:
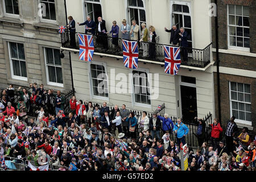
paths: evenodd
<path fill-rule="evenodd" d="M 163 46 L 164 47 L 164 72 L 170 75 L 177 75 L 180 68 L 180 48 Z"/>

